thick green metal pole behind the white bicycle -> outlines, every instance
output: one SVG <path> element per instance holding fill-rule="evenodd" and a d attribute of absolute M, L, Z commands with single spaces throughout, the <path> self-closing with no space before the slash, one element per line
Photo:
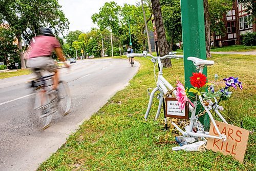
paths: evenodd
<path fill-rule="evenodd" d="M 193 62 L 188 61 L 189 56 L 206 59 L 205 47 L 205 26 L 204 26 L 204 6 L 203 0 L 181 0 L 181 20 L 182 20 L 182 39 L 184 52 L 185 86 L 191 86 L 189 77 L 192 72 L 198 72 Z M 204 69 L 207 77 L 207 70 Z M 199 111 L 201 106 L 197 108 Z M 206 130 L 209 129 L 210 122 L 208 115 L 200 117 L 200 121 Z"/>

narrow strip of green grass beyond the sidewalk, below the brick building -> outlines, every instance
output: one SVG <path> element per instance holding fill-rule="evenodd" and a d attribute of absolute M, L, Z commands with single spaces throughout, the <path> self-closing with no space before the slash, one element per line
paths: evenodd
<path fill-rule="evenodd" d="M 244 46 L 244 45 L 233 45 L 233 46 L 224 46 L 219 48 L 211 48 L 213 52 L 228 52 L 228 51 L 239 51 L 239 52 L 246 52 L 246 51 L 254 51 L 256 50 L 256 46 Z"/>

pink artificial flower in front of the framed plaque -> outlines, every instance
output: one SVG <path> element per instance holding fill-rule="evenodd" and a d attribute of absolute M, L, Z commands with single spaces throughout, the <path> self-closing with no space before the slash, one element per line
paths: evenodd
<path fill-rule="evenodd" d="M 191 104 L 191 106 L 194 107 L 194 104 L 187 98 L 186 89 L 183 86 L 183 84 L 179 81 L 177 81 L 177 87 L 176 87 L 176 100 L 178 100 L 178 104 L 181 110 L 184 109 L 187 102 Z"/>

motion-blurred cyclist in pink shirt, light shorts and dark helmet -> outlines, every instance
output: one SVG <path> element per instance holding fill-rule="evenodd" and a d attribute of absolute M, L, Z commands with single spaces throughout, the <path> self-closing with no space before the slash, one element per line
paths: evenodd
<path fill-rule="evenodd" d="M 55 35 L 49 28 L 41 27 L 40 33 L 31 41 L 31 51 L 29 54 L 29 67 L 34 71 L 35 69 L 47 70 L 54 72 L 53 89 L 57 89 L 59 82 L 58 66 L 51 58 L 52 52 L 55 50 L 60 61 L 65 62 L 65 58 Z M 65 66 L 69 65 L 65 62 Z"/>

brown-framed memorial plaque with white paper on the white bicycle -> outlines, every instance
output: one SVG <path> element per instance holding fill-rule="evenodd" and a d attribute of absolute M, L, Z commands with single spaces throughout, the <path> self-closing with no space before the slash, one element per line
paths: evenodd
<path fill-rule="evenodd" d="M 166 98 L 165 102 L 166 117 L 188 119 L 188 106 L 185 106 L 185 108 L 181 110 L 176 98 Z"/>

